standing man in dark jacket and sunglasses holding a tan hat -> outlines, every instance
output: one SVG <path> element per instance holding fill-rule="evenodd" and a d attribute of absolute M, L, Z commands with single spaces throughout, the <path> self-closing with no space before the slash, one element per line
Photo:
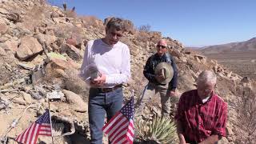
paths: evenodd
<path fill-rule="evenodd" d="M 167 52 L 167 43 L 166 40 L 161 39 L 157 44 L 158 52 L 153 54 L 146 61 L 146 66 L 144 67 L 143 74 L 149 80 L 148 85 L 142 95 L 140 100 L 139 111 L 141 112 L 146 105 L 146 102 L 150 100 L 150 97 L 156 93 L 160 93 L 161 104 L 162 104 L 162 115 L 170 115 L 170 97 L 174 97 L 175 90 L 177 87 L 177 77 L 178 70 L 174 59 Z M 173 68 L 173 78 L 167 84 L 162 84 L 158 79 L 162 78 L 162 75 L 155 74 L 155 68 L 160 62 L 167 62 Z"/>

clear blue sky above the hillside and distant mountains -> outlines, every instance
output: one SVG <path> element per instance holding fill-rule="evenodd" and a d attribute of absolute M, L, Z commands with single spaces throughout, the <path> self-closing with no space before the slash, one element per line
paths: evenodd
<path fill-rule="evenodd" d="M 79 15 L 130 19 L 135 26 L 177 39 L 184 46 L 241 42 L 256 37 L 256 0 L 49 0 Z"/>

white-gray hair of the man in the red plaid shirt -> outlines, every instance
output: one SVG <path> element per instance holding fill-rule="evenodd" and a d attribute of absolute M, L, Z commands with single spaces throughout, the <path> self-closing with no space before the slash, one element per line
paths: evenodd
<path fill-rule="evenodd" d="M 203 70 L 202 73 L 198 75 L 197 84 L 200 82 L 202 83 L 211 83 L 213 85 L 216 84 L 217 77 L 213 71 L 210 70 Z"/>

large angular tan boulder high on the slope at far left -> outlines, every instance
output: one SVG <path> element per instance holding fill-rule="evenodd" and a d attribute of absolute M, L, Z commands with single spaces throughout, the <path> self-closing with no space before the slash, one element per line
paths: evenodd
<path fill-rule="evenodd" d="M 30 58 L 35 54 L 42 52 L 42 50 L 42 46 L 37 39 L 26 36 L 22 38 L 21 45 L 18 46 L 16 54 L 19 59 L 26 60 L 27 58 Z"/>

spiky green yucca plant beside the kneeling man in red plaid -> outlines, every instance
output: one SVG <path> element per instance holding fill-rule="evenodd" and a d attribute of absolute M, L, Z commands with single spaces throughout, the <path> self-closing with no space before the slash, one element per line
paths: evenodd
<path fill-rule="evenodd" d="M 155 116 L 153 120 L 135 121 L 136 138 L 142 143 L 177 143 L 176 126 L 170 118 Z M 152 142 L 154 141 L 154 142 Z"/>

